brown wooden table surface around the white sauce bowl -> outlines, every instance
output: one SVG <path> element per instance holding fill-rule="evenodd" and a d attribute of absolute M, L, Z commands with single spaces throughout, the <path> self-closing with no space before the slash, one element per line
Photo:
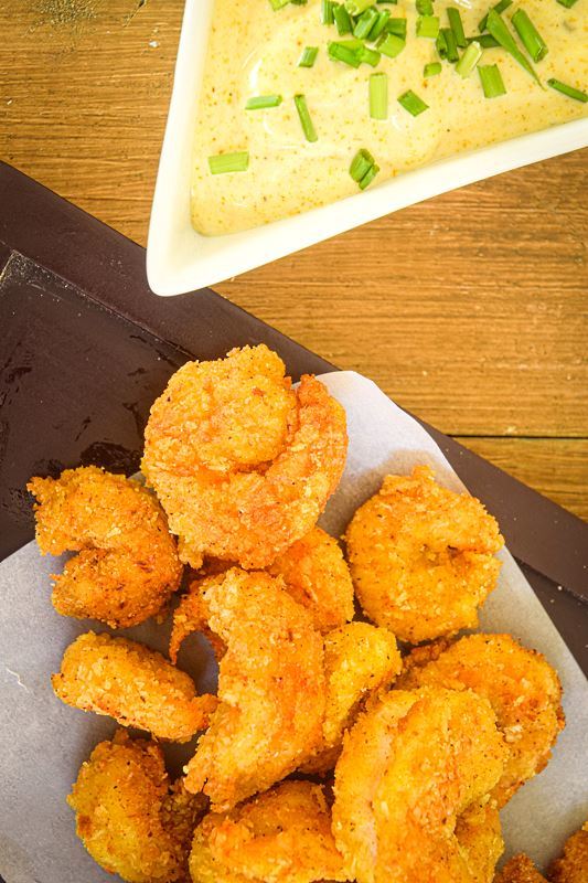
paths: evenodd
<path fill-rule="evenodd" d="M 182 0 L 0 8 L 0 157 L 145 244 Z M 217 289 L 588 518 L 588 151 Z"/>

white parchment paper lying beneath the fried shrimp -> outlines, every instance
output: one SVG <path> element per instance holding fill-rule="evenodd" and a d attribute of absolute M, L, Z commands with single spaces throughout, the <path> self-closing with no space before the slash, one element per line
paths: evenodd
<path fill-rule="evenodd" d="M 429 464 L 439 481 L 462 485 L 430 436 L 371 381 L 353 372 L 321 377 L 348 414 L 350 449 L 339 490 L 321 519 L 340 535 L 354 510 L 387 472 Z M 541 650 L 564 685 L 567 726 L 544 770 L 502 812 L 505 857 L 525 851 L 544 866 L 566 837 L 588 818 L 588 689 L 586 680 L 512 556 L 502 554 L 499 586 L 481 616 L 487 631 L 509 631 Z M 65 647 L 99 624 L 58 616 L 51 606 L 50 574 L 61 562 L 43 558 L 34 543 L 0 564 L 0 874 L 6 883 L 107 883 L 113 876 L 87 855 L 75 836 L 65 797 L 94 745 L 113 721 L 60 702 L 50 674 Z M 121 632 L 165 650 L 169 624 L 143 624 Z M 214 688 L 216 668 L 203 640 L 191 639 L 179 664 L 199 690 Z M 167 746 L 172 772 L 194 745 Z"/>

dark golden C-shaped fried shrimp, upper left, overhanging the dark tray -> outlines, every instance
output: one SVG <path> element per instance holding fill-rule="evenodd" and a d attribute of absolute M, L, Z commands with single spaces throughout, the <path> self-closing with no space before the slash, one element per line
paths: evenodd
<path fill-rule="evenodd" d="M 53 606 L 126 628 L 158 614 L 182 576 L 175 541 L 154 497 L 137 481 L 95 466 L 33 478 L 43 554 L 79 552 L 54 577 Z"/>

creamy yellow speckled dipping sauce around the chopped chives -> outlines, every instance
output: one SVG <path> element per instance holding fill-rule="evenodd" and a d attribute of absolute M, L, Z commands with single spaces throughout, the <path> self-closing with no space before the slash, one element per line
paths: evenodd
<path fill-rule="evenodd" d="M 491 2 L 436 0 L 435 13 L 447 26 L 448 6 L 459 6 L 467 35 Z M 548 46 L 535 65 L 545 83 L 557 77 L 570 86 L 588 83 L 588 0 L 566 9 L 556 0 L 521 0 L 503 18 L 524 9 Z M 192 223 L 200 233 L 217 235 L 267 224 L 357 193 L 349 174 L 360 148 L 381 167 L 374 184 L 407 169 L 464 150 L 504 141 L 586 116 L 588 105 L 550 88 L 543 91 L 502 49 L 484 50 L 480 64 L 498 64 L 506 95 L 484 98 L 474 71 L 462 79 L 443 62 L 438 76 L 424 78 L 425 64 L 438 61 L 435 41 L 415 35 L 413 0 L 381 6 L 407 18 L 407 41 L 394 60 L 382 55 L 377 67 L 350 67 L 328 57 L 327 44 L 339 36 L 320 22 L 320 0 L 274 11 L 269 0 L 216 0 L 214 23 L 195 132 L 192 172 Z M 368 44 L 372 45 L 372 44 Z M 311 68 L 298 67 L 304 46 L 318 46 Z M 368 81 L 388 74 L 389 116 L 370 118 Z M 413 89 L 429 109 L 413 117 L 397 97 Z M 245 110 L 248 98 L 278 94 L 279 107 Z M 304 139 L 293 96 L 303 94 L 318 134 Z M 247 150 L 246 172 L 211 174 L 207 158 Z"/>

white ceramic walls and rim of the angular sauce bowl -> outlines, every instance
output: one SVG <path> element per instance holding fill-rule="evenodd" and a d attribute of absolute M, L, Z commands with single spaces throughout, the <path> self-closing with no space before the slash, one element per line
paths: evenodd
<path fill-rule="evenodd" d="M 190 220 L 190 181 L 213 4 L 186 0 L 184 9 L 147 245 L 147 276 L 158 295 L 214 285 L 429 196 L 588 146 L 588 118 L 578 119 L 439 160 L 292 217 L 202 236 Z"/>

